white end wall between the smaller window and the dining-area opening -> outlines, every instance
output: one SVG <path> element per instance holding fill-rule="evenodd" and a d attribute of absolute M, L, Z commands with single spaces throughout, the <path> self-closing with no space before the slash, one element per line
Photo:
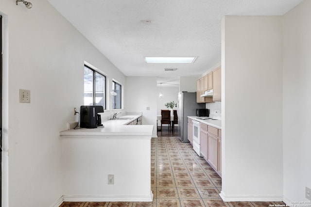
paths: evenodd
<path fill-rule="evenodd" d="M 153 125 L 153 137 L 156 137 L 156 77 L 126 77 L 126 86 L 125 110 L 142 112 L 142 124 Z"/>

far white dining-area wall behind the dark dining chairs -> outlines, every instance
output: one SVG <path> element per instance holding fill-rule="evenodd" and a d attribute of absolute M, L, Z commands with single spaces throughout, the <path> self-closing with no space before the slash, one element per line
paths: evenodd
<path fill-rule="evenodd" d="M 157 96 L 157 114 L 161 114 L 161 110 L 167 110 L 168 108 L 166 106 L 164 106 L 164 104 L 166 104 L 167 102 L 170 101 L 174 101 L 175 103 L 178 102 L 178 92 L 179 92 L 179 86 L 167 86 L 165 84 L 162 84 L 162 86 L 160 86 L 158 84 L 157 86 L 157 95 L 159 95 L 159 93 L 162 91 L 163 93 L 163 97 L 159 98 L 159 96 Z M 174 107 L 174 110 L 177 110 L 176 107 Z"/>

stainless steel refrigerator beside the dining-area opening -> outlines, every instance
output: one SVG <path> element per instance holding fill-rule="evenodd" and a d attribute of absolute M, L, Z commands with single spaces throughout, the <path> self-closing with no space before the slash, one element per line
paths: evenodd
<path fill-rule="evenodd" d="M 196 103 L 195 92 L 179 92 L 177 103 L 178 138 L 181 142 L 188 140 L 188 116 L 195 116 L 196 109 L 205 109 L 205 103 Z"/>

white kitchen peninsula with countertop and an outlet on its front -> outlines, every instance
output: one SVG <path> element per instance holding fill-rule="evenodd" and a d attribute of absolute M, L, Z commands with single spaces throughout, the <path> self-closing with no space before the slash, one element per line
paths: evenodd
<path fill-rule="evenodd" d="M 103 121 L 104 127 L 60 132 L 64 201 L 153 200 L 153 126 L 132 125 L 139 117 L 126 115 Z M 110 183 L 108 175 L 114 176 Z"/>

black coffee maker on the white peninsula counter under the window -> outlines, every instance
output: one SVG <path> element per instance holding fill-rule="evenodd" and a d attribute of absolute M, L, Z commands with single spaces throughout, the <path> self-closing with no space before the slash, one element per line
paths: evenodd
<path fill-rule="evenodd" d="M 98 114 L 101 112 L 104 112 L 103 106 L 81 106 L 80 127 L 97 128 L 103 126 L 101 115 Z"/>

